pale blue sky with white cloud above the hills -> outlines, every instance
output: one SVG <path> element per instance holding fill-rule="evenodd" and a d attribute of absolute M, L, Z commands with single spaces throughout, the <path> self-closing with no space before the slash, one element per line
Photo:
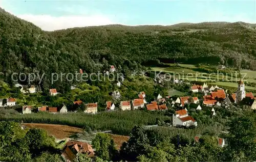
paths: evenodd
<path fill-rule="evenodd" d="M 256 0 L 0 0 L 0 7 L 45 31 L 106 24 L 256 23 Z"/>

